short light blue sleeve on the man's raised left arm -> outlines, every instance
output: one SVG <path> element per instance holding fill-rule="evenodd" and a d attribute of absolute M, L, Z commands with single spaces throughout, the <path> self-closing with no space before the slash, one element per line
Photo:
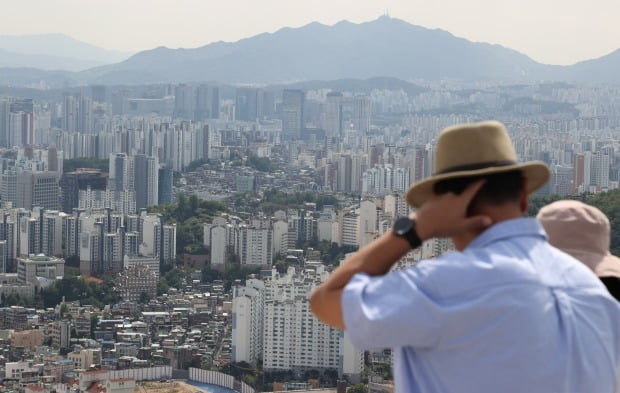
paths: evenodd
<path fill-rule="evenodd" d="M 342 293 L 342 310 L 354 346 L 430 348 L 437 344 L 445 319 L 442 308 L 417 281 L 411 270 L 353 276 Z"/>

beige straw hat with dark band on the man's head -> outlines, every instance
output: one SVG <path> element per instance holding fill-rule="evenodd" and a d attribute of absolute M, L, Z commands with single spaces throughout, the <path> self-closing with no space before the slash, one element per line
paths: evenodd
<path fill-rule="evenodd" d="M 520 170 L 528 193 L 542 187 L 551 175 L 540 161 L 517 162 L 506 127 L 497 121 L 448 127 L 439 134 L 435 174 L 409 189 L 407 202 L 420 207 L 434 195 L 435 183 L 459 177 L 491 175 Z"/>

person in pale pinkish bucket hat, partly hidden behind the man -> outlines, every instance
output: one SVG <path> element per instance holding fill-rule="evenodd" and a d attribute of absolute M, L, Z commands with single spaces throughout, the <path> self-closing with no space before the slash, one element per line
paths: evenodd
<path fill-rule="evenodd" d="M 609 252 L 609 219 L 583 202 L 564 200 L 543 206 L 536 216 L 549 243 L 589 267 L 620 300 L 620 258 Z"/>

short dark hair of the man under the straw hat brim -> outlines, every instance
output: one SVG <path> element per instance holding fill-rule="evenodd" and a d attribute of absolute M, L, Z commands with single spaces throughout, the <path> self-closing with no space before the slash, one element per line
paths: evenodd
<path fill-rule="evenodd" d="M 507 202 L 519 200 L 521 187 L 523 184 L 523 174 L 519 170 L 494 173 L 492 175 L 458 177 L 453 179 L 441 180 L 435 183 L 433 191 L 436 195 L 451 192 L 459 195 L 471 183 L 485 179 L 486 182 L 480 188 L 471 205 L 481 203 L 491 205 L 501 205 Z"/>

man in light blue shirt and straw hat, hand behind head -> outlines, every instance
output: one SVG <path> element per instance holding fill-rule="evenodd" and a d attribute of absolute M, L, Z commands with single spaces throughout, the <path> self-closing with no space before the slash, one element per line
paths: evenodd
<path fill-rule="evenodd" d="M 360 349 L 392 347 L 398 392 L 619 391 L 620 306 L 522 218 L 547 166 L 517 163 L 498 122 L 442 131 L 435 157 L 407 193 L 415 212 L 316 288 L 316 316 Z M 390 272 L 433 237 L 458 251 Z"/>

